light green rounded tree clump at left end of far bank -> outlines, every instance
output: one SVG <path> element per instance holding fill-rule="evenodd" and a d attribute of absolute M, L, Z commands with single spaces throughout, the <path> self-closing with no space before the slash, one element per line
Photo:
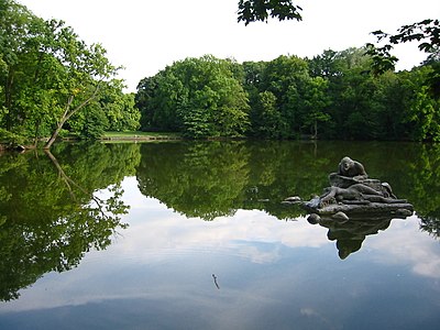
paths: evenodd
<path fill-rule="evenodd" d="M 213 56 L 176 62 L 138 87 L 142 129 L 182 131 L 188 138 L 241 136 L 248 96 L 237 64 Z"/>

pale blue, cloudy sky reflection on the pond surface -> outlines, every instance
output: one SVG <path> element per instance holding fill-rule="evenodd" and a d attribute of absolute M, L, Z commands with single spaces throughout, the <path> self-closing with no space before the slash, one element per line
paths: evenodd
<path fill-rule="evenodd" d="M 305 219 L 257 210 L 187 219 L 136 185 L 123 183 L 130 227 L 113 244 L 0 305 L 0 328 L 430 329 L 439 321 L 440 246 L 416 217 L 392 221 L 341 261 L 327 229 Z"/>

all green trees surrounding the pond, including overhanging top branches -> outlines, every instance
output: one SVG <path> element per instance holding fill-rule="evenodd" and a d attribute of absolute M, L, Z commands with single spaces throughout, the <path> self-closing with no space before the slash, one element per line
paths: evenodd
<path fill-rule="evenodd" d="M 260 2 L 267 1 L 240 1 L 239 21 L 301 19 L 290 1 L 262 11 Z M 63 21 L 37 18 L 13 0 L 0 0 L 0 142 L 46 139 L 50 147 L 58 136 L 138 129 L 190 139 L 440 141 L 438 20 L 397 35 L 376 31 L 388 41 L 383 47 L 326 50 L 312 58 L 186 58 L 125 94 L 106 50 L 87 45 Z M 413 40 L 429 56 L 395 72 L 389 43 Z"/>

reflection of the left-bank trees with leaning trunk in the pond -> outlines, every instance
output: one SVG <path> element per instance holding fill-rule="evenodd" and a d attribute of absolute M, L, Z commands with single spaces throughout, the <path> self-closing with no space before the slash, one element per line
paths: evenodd
<path fill-rule="evenodd" d="M 45 273 L 77 266 L 86 252 L 106 249 L 117 229 L 127 227 L 121 216 L 129 207 L 118 183 L 133 173 L 139 150 L 63 147 L 55 150 L 57 157 L 0 157 L 0 300 L 16 299 Z M 100 189 L 108 197 L 98 198 Z"/>

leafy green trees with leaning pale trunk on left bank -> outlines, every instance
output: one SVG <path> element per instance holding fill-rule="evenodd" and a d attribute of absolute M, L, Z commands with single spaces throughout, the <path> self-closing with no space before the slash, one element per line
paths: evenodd
<path fill-rule="evenodd" d="M 0 0 L 0 140 L 35 141 L 135 130 L 134 94 L 123 92 L 100 44 L 87 45 L 59 20 Z"/>

